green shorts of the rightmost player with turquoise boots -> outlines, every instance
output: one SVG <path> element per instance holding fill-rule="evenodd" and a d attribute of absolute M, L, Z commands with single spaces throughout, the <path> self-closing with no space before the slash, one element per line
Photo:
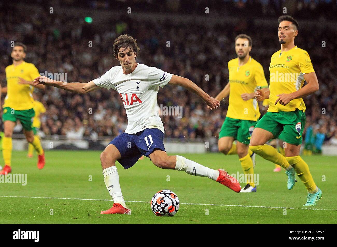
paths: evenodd
<path fill-rule="evenodd" d="M 255 128 L 265 129 L 271 132 L 274 138 L 279 137 L 287 143 L 300 145 L 305 119 L 305 113 L 298 109 L 293 112 L 267 112 Z"/>

